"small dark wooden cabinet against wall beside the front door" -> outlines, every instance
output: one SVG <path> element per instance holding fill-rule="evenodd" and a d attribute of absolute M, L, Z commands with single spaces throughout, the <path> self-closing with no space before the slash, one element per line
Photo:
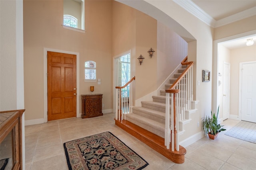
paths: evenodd
<path fill-rule="evenodd" d="M 102 116 L 102 94 L 82 94 L 82 118 Z"/>

